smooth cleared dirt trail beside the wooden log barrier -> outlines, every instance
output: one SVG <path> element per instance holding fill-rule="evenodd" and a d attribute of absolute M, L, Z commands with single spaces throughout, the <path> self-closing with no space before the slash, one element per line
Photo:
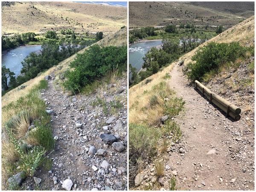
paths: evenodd
<path fill-rule="evenodd" d="M 237 122 L 226 118 L 224 113 L 188 85 L 186 76 L 183 76 L 177 64 L 170 75 L 170 87 L 186 102 L 185 114 L 177 119 L 183 131 L 182 142 L 186 152 L 169 153 L 166 162 L 172 170 L 177 170 L 177 188 L 253 190 L 253 128 L 245 125 L 243 116 Z M 216 154 L 207 155 L 211 149 Z M 166 172 L 172 174 L 171 169 Z M 167 181 L 165 189 L 168 187 Z"/>

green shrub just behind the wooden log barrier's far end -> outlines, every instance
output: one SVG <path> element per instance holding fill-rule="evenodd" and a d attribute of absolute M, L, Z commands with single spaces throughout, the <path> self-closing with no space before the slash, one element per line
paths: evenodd
<path fill-rule="evenodd" d="M 235 62 L 237 58 L 245 57 L 247 49 L 239 42 L 215 43 L 210 42 L 200 48 L 192 57 L 195 64 L 188 64 L 188 76 L 192 81 L 202 80 L 204 74 L 218 69 L 222 64 Z"/>

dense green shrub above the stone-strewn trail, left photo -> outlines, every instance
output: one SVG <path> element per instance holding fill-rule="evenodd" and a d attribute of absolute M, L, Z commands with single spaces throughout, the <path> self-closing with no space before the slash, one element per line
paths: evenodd
<path fill-rule="evenodd" d="M 99 47 L 93 45 L 83 54 L 78 54 L 75 61 L 70 63 L 74 70 L 69 71 L 64 82 L 67 90 L 77 93 L 87 84 L 102 78 L 111 70 L 122 73 L 126 70 L 127 47 Z"/>

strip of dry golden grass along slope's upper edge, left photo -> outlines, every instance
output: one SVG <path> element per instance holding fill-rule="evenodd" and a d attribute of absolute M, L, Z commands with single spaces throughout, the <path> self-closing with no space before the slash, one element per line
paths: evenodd
<path fill-rule="evenodd" d="M 98 41 L 96 44 L 99 44 L 100 46 L 126 45 L 126 43 L 127 43 L 126 37 L 127 37 L 127 30 L 124 28 L 124 29 L 121 29 L 120 31 L 116 32 L 113 35 L 109 35 L 109 36 L 103 38 L 102 40 Z M 85 49 L 82 49 L 78 53 L 83 53 L 86 49 L 88 49 L 88 47 Z M 50 73 L 52 73 L 52 71 L 56 70 L 57 74 L 63 73 L 69 67 L 70 62 L 76 58 L 76 55 L 77 54 L 72 55 L 71 57 L 69 57 L 69 58 L 65 59 L 64 61 L 62 61 L 61 63 L 59 63 L 57 66 L 50 68 L 49 70 L 39 74 L 34 79 L 31 79 L 31 80 L 27 81 L 26 83 L 20 85 L 19 87 L 16 87 L 15 89 L 6 93 L 4 96 L 2 96 L 2 106 L 6 105 L 12 101 L 16 101 L 20 96 L 26 95 L 26 93 L 28 93 L 29 90 L 31 90 L 31 88 L 35 84 L 37 84 L 40 80 L 44 79 L 44 76 L 47 76 Z M 26 86 L 26 87 L 24 89 L 20 89 L 20 87 L 22 87 L 22 86 Z"/>

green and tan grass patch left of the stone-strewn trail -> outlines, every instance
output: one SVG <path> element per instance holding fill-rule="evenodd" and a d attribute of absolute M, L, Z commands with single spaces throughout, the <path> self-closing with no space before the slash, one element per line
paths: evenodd
<path fill-rule="evenodd" d="M 3 181 L 21 171 L 25 177 L 33 176 L 42 165 L 44 155 L 54 148 L 50 116 L 40 98 L 40 91 L 46 88 L 47 81 L 41 80 L 26 96 L 2 108 Z"/>

